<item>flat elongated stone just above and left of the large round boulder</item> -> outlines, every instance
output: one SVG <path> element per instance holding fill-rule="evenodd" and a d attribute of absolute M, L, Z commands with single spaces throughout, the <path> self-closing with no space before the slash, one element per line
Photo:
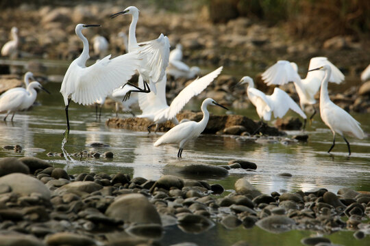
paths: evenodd
<path fill-rule="evenodd" d="M 56 189 L 54 193 L 58 195 L 62 195 L 63 193 L 75 193 L 76 195 L 84 196 L 101 189 L 103 189 L 103 186 L 92 181 L 75 181 L 63 185 L 62 187 Z"/>

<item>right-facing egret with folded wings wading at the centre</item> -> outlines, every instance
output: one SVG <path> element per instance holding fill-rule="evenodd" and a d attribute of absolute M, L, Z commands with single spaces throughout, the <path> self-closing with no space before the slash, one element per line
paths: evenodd
<path fill-rule="evenodd" d="M 201 104 L 201 111 L 203 112 L 203 118 L 200 122 L 188 121 L 178 124 L 171 128 L 167 133 L 164 133 L 155 143 L 154 146 L 160 146 L 167 143 L 178 143 L 179 152 L 177 152 L 177 157 L 182 158 L 182 150 L 186 143 L 190 139 L 195 139 L 204 131 L 207 126 L 208 120 L 210 118 L 210 113 L 207 110 L 208 105 L 217 105 L 227 109 L 223 105 L 219 105 L 212 98 L 207 98 Z"/>

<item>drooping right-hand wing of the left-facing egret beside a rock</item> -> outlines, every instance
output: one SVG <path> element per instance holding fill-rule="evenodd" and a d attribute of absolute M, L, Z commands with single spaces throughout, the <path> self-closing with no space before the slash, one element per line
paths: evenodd
<path fill-rule="evenodd" d="M 271 94 L 271 96 L 267 96 L 267 98 L 271 100 L 271 105 L 273 105 L 273 115 L 275 118 L 283 118 L 289 109 L 292 109 L 295 113 L 301 115 L 301 118 L 307 118 L 297 103 L 295 103 L 295 101 L 283 90 L 275 87 L 273 94 Z"/>

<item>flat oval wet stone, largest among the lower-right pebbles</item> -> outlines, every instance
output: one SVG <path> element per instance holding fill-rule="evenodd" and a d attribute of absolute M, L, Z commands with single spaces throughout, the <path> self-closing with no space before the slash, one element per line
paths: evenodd
<path fill-rule="evenodd" d="M 256 225 L 271 233 L 288 232 L 295 227 L 295 221 L 284 215 L 270 215 L 256 222 Z"/>

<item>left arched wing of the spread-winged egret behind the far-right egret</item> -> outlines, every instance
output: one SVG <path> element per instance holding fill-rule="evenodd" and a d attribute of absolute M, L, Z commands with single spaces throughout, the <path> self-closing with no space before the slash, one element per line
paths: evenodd
<path fill-rule="evenodd" d="M 289 61 L 281 60 L 264 71 L 262 79 L 267 85 L 284 85 L 291 81 L 299 81 L 301 78 Z"/>

